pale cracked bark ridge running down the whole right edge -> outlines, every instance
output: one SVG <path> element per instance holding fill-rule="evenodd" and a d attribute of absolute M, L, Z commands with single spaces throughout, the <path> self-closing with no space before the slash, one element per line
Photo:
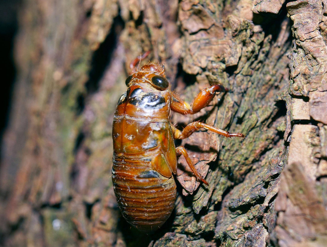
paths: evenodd
<path fill-rule="evenodd" d="M 290 2 L 287 10 L 294 22 L 295 38 L 290 56 L 293 99 L 288 103 L 287 124 L 287 132 L 292 130 L 292 134 L 289 138 L 286 134 L 290 149 L 276 199 L 275 242 L 280 246 L 324 246 L 327 215 L 326 181 L 322 178 L 326 174 L 325 2 Z"/>

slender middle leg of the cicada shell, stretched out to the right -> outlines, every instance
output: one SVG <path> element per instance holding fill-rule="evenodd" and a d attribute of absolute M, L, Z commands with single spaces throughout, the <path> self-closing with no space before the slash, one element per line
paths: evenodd
<path fill-rule="evenodd" d="M 242 137 L 244 138 L 244 134 L 242 133 L 230 133 L 228 131 L 216 128 L 214 126 L 205 124 L 205 123 L 201 123 L 201 122 L 192 122 L 188 125 L 186 125 L 186 127 L 180 131 L 179 129 L 176 129 L 173 125 L 171 125 L 171 128 L 173 130 L 173 134 L 174 134 L 174 138 L 175 139 L 184 139 L 184 138 L 188 138 L 189 136 L 191 136 L 191 134 L 193 134 L 196 130 L 200 129 L 200 128 L 204 128 L 210 131 L 213 131 L 217 134 L 221 134 L 224 137 Z"/>

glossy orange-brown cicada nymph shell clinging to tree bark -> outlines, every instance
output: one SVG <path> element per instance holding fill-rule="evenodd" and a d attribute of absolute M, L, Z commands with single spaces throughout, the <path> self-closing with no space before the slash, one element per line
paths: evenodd
<path fill-rule="evenodd" d="M 136 63 L 149 53 L 136 58 Z M 216 92 L 227 91 L 213 85 L 195 97 L 192 106 L 180 100 L 170 89 L 165 68 L 147 63 L 126 79 L 128 90 L 120 98 L 113 120 L 112 181 L 118 205 L 125 219 L 143 232 L 155 231 L 172 213 L 176 201 L 177 157 L 183 155 L 199 181 L 208 183 L 196 170 L 182 146 L 174 139 L 188 138 L 204 128 L 224 137 L 241 137 L 202 122 L 192 122 L 182 131 L 170 121 L 171 110 L 195 114 L 206 107 Z"/>

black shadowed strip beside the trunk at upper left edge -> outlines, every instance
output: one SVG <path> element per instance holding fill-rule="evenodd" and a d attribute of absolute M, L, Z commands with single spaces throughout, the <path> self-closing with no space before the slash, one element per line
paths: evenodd
<path fill-rule="evenodd" d="M 8 125 L 13 85 L 16 78 L 14 39 L 18 31 L 18 9 L 22 0 L 0 1 L 0 142 Z M 0 153 L 1 158 L 1 153 Z"/>

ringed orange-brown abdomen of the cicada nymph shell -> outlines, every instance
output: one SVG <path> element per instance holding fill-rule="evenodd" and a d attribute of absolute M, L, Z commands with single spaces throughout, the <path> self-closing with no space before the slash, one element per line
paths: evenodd
<path fill-rule="evenodd" d="M 124 218 L 144 232 L 155 231 L 172 213 L 176 200 L 173 176 L 153 170 L 152 157 L 128 158 L 113 154 L 114 193 Z"/>

